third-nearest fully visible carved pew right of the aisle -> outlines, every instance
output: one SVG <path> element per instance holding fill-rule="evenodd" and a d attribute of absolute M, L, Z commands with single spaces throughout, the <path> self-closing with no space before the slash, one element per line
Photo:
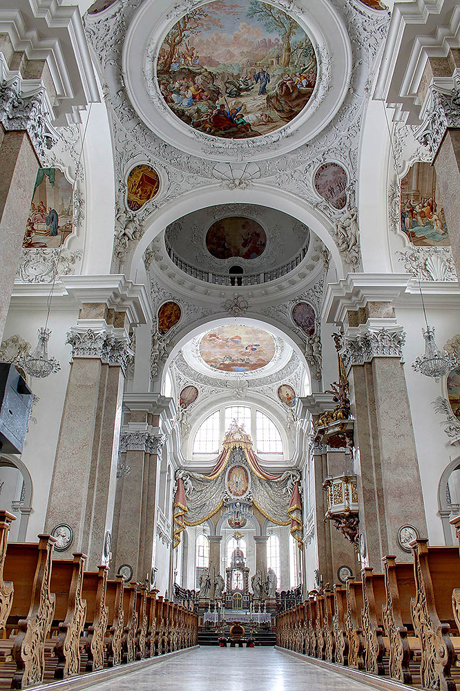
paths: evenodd
<path fill-rule="evenodd" d="M 385 576 L 374 574 L 374 569 L 365 567 L 361 571 L 361 579 L 363 583 L 361 622 L 363 624 L 365 669 L 373 674 L 385 674 L 383 656 L 387 651 L 385 650 L 382 613 L 382 608 L 387 601 Z"/>

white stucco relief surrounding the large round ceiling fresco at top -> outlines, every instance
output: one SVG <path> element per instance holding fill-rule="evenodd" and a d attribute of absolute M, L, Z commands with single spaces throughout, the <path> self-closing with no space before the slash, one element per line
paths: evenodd
<path fill-rule="evenodd" d="M 288 12 L 294 12 L 296 16 L 302 17 L 305 13 L 305 10 L 296 3 L 280 2 L 278 4 L 286 7 Z M 378 48 L 385 39 L 388 17 L 384 12 L 376 15 L 376 13 L 366 12 L 365 9 L 358 9 L 345 0 L 334 0 L 331 4 L 336 16 L 341 18 L 340 21 L 347 28 L 352 48 L 353 68 L 349 74 L 347 82 L 347 88 L 349 88 L 343 105 L 323 131 L 307 144 L 291 151 L 289 155 L 277 153 L 284 145 L 282 139 L 271 143 L 265 151 L 270 158 L 257 160 L 258 169 L 253 177 L 275 188 L 280 187 L 296 194 L 300 199 L 323 211 L 334 223 L 343 214 L 334 211 L 325 200 L 318 200 L 312 188 L 312 174 L 320 162 L 331 158 L 341 162 L 347 168 L 350 187 L 355 186 L 359 132 L 365 104 L 370 96 L 374 60 Z M 104 17 L 97 17 L 97 15 L 86 17 L 86 33 L 95 54 L 99 56 L 104 97 L 113 125 L 115 172 L 119 181 L 119 189 L 116 191 L 118 209 L 123 208 L 124 172 L 136 157 L 144 155 L 145 162 L 152 164 L 162 176 L 162 191 L 157 198 L 146 205 L 148 209 L 141 209 L 137 214 L 140 220 L 143 220 L 151 211 L 187 191 L 198 189 L 213 180 L 219 180 L 222 183 L 222 173 L 215 170 L 213 146 L 211 151 L 204 151 L 201 156 L 185 153 L 183 149 L 171 146 L 148 129 L 128 98 L 122 68 L 122 52 L 128 26 L 139 6 L 140 0 L 122 0 L 114 6 L 113 11 L 104 13 Z M 189 0 L 175 3 L 167 14 L 167 21 L 173 23 L 193 6 L 195 3 Z M 323 56 L 323 68 L 327 69 L 328 64 L 334 76 L 336 66 L 330 56 L 329 62 Z M 320 111 L 321 108 L 318 108 L 318 113 Z M 195 132 L 195 135 L 197 134 Z M 286 138 L 286 141 L 289 146 L 289 138 Z M 254 140 L 246 140 L 247 154 L 238 154 L 240 162 L 244 163 L 245 158 L 253 160 L 251 147 L 260 146 L 261 143 L 263 142 L 256 144 Z M 224 144 L 225 142 L 219 142 L 220 158 L 229 160 L 228 149 L 227 155 L 222 155 L 222 151 L 225 151 L 222 149 Z M 227 142 L 227 147 L 233 144 L 234 142 Z M 241 180 L 241 182 L 247 184 L 248 180 Z M 238 184 L 238 177 L 236 180 L 224 180 L 223 183 Z M 119 265 L 125 261 L 127 253 L 131 251 L 133 243 L 142 232 L 141 228 L 136 237 L 126 239 L 123 229 L 120 227 L 117 229 L 117 238 L 122 238 L 115 252 Z"/>

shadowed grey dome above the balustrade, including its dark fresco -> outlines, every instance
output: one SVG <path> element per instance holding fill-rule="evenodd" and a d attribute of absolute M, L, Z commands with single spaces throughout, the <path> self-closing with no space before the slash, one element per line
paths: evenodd
<path fill-rule="evenodd" d="M 207 207 L 187 214 L 165 231 L 166 249 L 189 265 L 225 274 L 232 265 L 245 274 L 285 265 L 306 252 L 309 228 L 281 211 L 250 204 Z"/>

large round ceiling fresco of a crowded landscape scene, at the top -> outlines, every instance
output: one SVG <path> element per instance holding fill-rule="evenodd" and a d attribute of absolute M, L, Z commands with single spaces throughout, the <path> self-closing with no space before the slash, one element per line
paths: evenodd
<path fill-rule="evenodd" d="M 312 97 L 317 71 L 303 28 L 258 0 L 195 8 L 169 30 L 157 60 L 171 111 L 226 139 L 258 137 L 293 120 Z"/>

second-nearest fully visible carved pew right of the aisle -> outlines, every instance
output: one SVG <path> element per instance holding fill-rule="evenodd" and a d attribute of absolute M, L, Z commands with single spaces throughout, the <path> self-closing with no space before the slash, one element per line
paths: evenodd
<path fill-rule="evenodd" d="M 414 635 L 411 598 L 415 595 L 414 565 L 396 562 L 394 555 L 383 558 L 386 603 L 382 608 L 383 625 L 388 636 L 389 674 L 392 679 L 412 684 L 410 661 L 421 650 Z"/>

